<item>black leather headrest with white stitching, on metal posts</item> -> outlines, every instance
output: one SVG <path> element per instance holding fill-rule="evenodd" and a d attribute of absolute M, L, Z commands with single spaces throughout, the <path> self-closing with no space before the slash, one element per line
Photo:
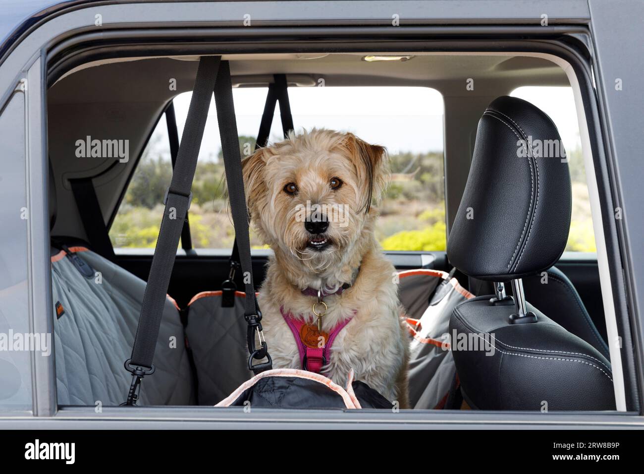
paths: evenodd
<path fill-rule="evenodd" d="M 570 213 L 570 172 L 553 121 L 529 102 L 498 97 L 478 122 L 451 264 L 493 281 L 547 270 L 564 252 Z"/>

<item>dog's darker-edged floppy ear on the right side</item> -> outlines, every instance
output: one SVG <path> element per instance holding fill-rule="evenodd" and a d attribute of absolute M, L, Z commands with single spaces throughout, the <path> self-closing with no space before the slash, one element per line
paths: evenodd
<path fill-rule="evenodd" d="M 384 188 L 389 183 L 387 150 L 384 146 L 366 143 L 353 133 L 346 133 L 343 145 L 354 161 L 362 195 L 365 197 L 363 208 L 365 212 L 369 212 L 372 202 L 380 201 Z"/>

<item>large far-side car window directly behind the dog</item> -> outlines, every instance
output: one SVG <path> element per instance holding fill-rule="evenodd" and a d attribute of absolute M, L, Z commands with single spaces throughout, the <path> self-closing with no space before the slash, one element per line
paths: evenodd
<path fill-rule="evenodd" d="M 266 95 L 267 88 L 233 90 L 244 155 L 254 150 Z M 190 98 L 191 93 L 185 93 L 174 100 L 179 136 Z M 355 133 L 388 149 L 392 182 L 384 193 L 376 227 L 384 250 L 445 250 L 443 103 L 439 92 L 422 87 L 291 87 L 289 101 L 296 132 L 331 128 Z M 234 231 L 214 104 L 210 110 L 193 183 L 190 230 L 194 248 L 229 249 Z M 274 143 L 282 138 L 278 104 L 269 140 Z M 115 248 L 155 246 L 171 176 L 167 125 L 162 117 L 111 226 Z M 263 248 L 252 232 L 251 243 L 253 248 Z"/>

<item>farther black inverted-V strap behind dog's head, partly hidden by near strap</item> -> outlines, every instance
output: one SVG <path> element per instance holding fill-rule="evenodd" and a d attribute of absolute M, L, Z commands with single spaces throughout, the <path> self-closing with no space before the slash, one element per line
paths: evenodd
<path fill-rule="evenodd" d="M 289 132 L 294 130 L 293 115 L 290 112 L 289 102 L 289 84 L 285 74 L 274 74 L 273 82 L 269 84 L 269 92 L 266 95 L 264 112 L 261 114 L 260 130 L 257 132 L 255 141 L 255 151 L 269 142 L 270 126 L 273 123 L 275 114 L 275 104 L 279 101 L 279 115 L 281 117 L 282 132 L 284 138 L 289 137 Z M 237 285 L 234 282 L 235 273 L 240 266 L 239 249 L 237 239 L 232 243 L 232 253 L 230 258 L 231 270 L 228 279 L 222 282 L 222 307 L 232 308 L 234 306 L 234 295 Z"/>

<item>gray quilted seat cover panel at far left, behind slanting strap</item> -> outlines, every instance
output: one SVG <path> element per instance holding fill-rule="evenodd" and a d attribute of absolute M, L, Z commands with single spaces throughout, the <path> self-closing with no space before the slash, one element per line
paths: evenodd
<path fill-rule="evenodd" d="M 95 272 L 84 277 L 64 253 L 52 257 L 55 360 L 58 403 L 115 406 L 132 379 L 129 359 L 146 283 L 83 248 L 72 248 Z M 179 311 L 166 300 L 155 351 L 156 372 L 144 379 L 138 405 L 194 404 L 193 375 Z"/>

